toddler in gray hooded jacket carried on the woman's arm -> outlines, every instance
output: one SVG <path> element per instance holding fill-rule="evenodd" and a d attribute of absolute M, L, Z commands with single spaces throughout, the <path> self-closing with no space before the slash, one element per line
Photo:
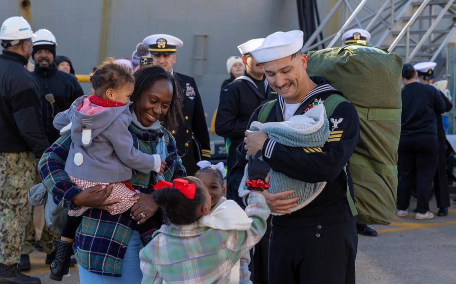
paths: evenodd
<path fill-rule="evenodd" d="M 112 183 L 107 200 L 119 201 L 107 207 L 109 213 L 115 215 L 127 211 L 136 202 L 130 198 L 139 191 L 127 182 L 132 177 L 132 169 L 161 174 L 166 165 L 161 156 L 166 155 L 146 154 L 133 147 L 128 126 L 132 120 L 129 105 L 134 77 L 127 66 L 107 60 L 92 74 L 91 82 L 95 95 L 76 99 L 69 109 L 56 115 L 54 126 L 61 134 L 71 131 L 65 171 L 75 186 L 84 190 Z M 51 264 L 51 279 L 61 280 L 68 273 L 72 243 L 87 209 L 82 206 L 69 210 L 57 243 L 56 259 Z M 147 235 L 153 229 L 150 226 L 146 221 L 137 226 L 137 231 Z"/>

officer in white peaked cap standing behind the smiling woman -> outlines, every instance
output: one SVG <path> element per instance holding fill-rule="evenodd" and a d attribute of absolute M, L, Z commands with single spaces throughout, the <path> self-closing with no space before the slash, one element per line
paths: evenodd
<path fill-rule="evenodd" d="M 182 87 L 183 119 L 178 120 L 177 129 L 168 130 L 176 139 L 177 150 L 187 174 L 193 175 L 199 169 L 196 165 L 198 161 L 210 159 L 210 143 L 201 96 L 195 80 L 173 70 L 176 50 L 182 47 L 183 42 L 175 36 L 159 33 L 147 36 L 142 43 L 148 46 L 153 62 L 174 74 Z"/>

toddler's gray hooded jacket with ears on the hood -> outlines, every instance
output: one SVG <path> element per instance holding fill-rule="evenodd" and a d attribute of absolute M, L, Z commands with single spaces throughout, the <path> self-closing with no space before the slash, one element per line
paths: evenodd
<path fill-rule="evenodd" d="M 65 171 L 73 176 L 98 182 L 122 182 L 131 178 L 132 168 L 148 173 L 155 157 L 133 147 L 128 126 L 129 104 L 110 107 L 88 115 L 77 108 L 86 96 L 54 118 L 54 126 L 64 133 L 71 129 L 71 146 Z"/>

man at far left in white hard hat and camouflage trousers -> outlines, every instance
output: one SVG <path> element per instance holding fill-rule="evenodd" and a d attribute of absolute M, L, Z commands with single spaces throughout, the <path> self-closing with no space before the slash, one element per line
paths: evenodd
<path fill-rule="evenodd" d="M 33 31 L 20 16 L 0 28 L 0 283 L 38 284 L 40 278 L 18 270 L 27 200 L 35 184 L 36 158 L 48 147 L 43 130 L 38 85 L 25 65 L 32 54 Z"/>

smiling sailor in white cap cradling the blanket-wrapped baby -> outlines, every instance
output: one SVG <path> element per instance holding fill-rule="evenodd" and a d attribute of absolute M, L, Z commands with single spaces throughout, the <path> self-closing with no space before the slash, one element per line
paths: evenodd
<path fill-rule="evenodd" d="M 251 51 L 257 62 L 263 63 L 269 85 L 279 93 L 277 100 L 265 104 L 271 108 L 262 112 L 262 122 L 287 121 L 324 103 L 330 95 L 341 94 L 325 78 L 309 77 L 302 45 L 301 30 L 278 31 Z M 259 119 L 261 109 L 253 113 L 251 122 Z M 347 199 L 347 186 L 353 196 L 353 184 L 344 166 L 359 142 L 358 114 L 351 103 L 343 101 L 328 119 L 331 132 L 323 147 L 290 147 L 268 138 L 263 131 L 249 130 L 238 147 L 240 153 L 231 172 L 232 182 L 238 185 L 246 155 L 258 150 L 272 169 L 288 177 L 327 182 L 317 198 L 293 212 L 289 209 L 297 205 L 298 197 L 285 199 L 293 194 L 292 188 L 274 194 L 264 191 L 271 211 L 284 213 L 272 217 L 270 283 L 355 283 L 358 235 Z"/>

